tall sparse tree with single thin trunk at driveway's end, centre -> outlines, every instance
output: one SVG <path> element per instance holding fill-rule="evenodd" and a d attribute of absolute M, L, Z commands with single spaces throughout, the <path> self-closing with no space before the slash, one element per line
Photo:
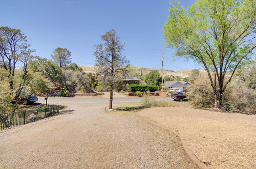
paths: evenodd
<path fill-rule="evenodd" d="M 103 80 L 106 86 L 110 87 L 109 109 L 112 109 L 113 90 L 115 85 L 126 75 L 129 61 L 122 55 L 124 45 L 121 43 L 120 37 L 117 36 L 116 30 L 112 29 L 106 32 L 101 39 L 104 44 L 95 46 L 95 67 L 104 76 Z"/>

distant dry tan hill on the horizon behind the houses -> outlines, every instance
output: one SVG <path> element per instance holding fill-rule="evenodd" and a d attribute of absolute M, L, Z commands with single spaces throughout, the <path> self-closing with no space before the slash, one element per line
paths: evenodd
<path fill-rule="evenodd" d="M 86 73 L 96 73 L 94 66 L 81 66 L 81 65 L 79 65 L 79 66 Z M 137 69 L 138 73 L 142 72 L 142 74 L 147 74 L 153 70 L 157 70 L 160 74 L 162 74 L 161 69 L 141 68 L 141 67 L 136 67 L 136 69 Z M 189 77 L 191 75 L 191 70 L 192 69 L 179 70 L 179 71 L 164 70 L 163 74 L 164 74 L 164 76 L 185 78 L 185 77 Z M 201 74 L 206 74 L 206 71 L 201 70 Z"/>

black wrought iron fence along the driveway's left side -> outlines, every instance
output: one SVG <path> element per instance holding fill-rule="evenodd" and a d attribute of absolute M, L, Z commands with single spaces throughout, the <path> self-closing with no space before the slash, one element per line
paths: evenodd
<path fill-rule="evenodd" d="M 14 126 L 23 125 L 33 121 L 41 120 L 59 114 L 59 106 L 49 106 L 46 108 L 37 108 L 11 113 L 0 113 L 0 129 L 10 129 Z"/>

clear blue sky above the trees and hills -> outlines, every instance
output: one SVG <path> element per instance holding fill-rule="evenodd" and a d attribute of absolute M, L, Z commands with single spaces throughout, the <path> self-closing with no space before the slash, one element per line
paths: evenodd
<path fill-rule="evenodd" d="M 193 0 L 181 0 L 185 7 Z M 162 33 L 167 20 L 168 0 L 23 0 L 1 1 L 1 25 L 17 28 L 28 36 L 36 55 L 51 58 L 57 47 L 72 52 L 78 65 L 94 66 L 94 45 L 100 36 L 116 29 L 125 44 L 123 54 L 137 67 L 194 69 L 183 58 L 173 60 L 174 49 L 166 49 Z"/>

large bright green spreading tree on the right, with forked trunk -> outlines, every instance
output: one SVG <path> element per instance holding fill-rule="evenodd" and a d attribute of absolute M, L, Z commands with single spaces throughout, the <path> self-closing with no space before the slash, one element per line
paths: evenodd
<path fill-rule="evenodd" d="M 254 0 L 197 0 L 188 9 L 180 3 L 170 4 L 164 25 L 166 44 L 177 49 L 177 56 L 204 66 L 215 108 L 221 109 L 224 91 L 236 70 L 253 56 L 255 6 Z"/>

